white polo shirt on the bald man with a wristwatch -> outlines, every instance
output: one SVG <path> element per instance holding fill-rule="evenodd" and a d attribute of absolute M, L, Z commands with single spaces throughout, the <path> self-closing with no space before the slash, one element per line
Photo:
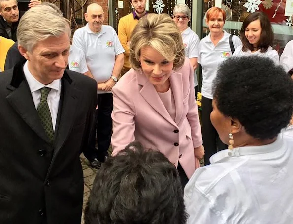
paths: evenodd
<path fill-rule="evenodd" d="M 107 25 L 102 25 L 98 33 L 92 32 L 88 24 L 77 29 L 73 35 L 73 45 L 83 50 L 97 83 L 111 78 L 115 56 L 125 51 L 115 30 Z M 97 93 L 107 92 L 98 90 Z"/>

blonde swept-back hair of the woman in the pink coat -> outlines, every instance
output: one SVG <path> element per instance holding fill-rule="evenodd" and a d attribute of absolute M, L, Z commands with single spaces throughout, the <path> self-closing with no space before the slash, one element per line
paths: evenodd
<path fill-rule="evenodd" d="M 150 13 L 139 19 L 131 35 L 130 65 L 134 70 L 141 69 L 140 50 L 150 46 L 160 52 L 168 61 L 174 61 L 173 69 L 184 64 L 184 46 L 181 33 L 167 14 Z"/>

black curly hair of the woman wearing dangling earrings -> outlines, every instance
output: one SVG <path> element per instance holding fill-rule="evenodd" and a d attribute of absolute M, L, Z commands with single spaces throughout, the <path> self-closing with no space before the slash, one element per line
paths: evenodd
<path fill-rule="evenodd" d="M 266 57 L 228 58 L 219 65 L 213 92 L 219 111 L 256 139 L 276 137 L 293 113 L 293 80 Z"/>

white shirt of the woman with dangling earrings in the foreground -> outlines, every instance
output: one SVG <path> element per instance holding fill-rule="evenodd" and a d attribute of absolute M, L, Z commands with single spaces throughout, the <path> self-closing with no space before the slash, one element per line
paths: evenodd
<path fill-rule="evenodd" d="M 188 224 L 293 224 L 293 137 L 223 150 L 184 189 Z"/>

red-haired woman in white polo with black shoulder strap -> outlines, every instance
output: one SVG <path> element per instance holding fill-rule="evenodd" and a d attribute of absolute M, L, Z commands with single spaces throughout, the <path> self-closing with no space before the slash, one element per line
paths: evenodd
<path fill-rule="evenodd" d="M 216 77 L 218 65 L 232 55 L 229 44 L 230 34 L 223 30 L 226 13 L 218 7 L 210 8 L 206 13 L 206 24 L 210 30 L 208 36 L 199 43 L 198 63 L 202 67 L 202 140 L 205 149 L 204 164 L 210 164 L 210 157 L 218 150 L 228 148 L 222 143 L 216 129 L 210 121 L 212 112 L 212 83 Z M 241 46 L 237 36 L 232 37 L 234 48 Z"/>

